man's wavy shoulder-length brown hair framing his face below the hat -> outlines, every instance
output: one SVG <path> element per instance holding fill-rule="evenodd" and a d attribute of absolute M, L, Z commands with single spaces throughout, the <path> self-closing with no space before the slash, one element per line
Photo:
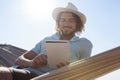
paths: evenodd
<path fill-rule="evenodd" d="M 60 32 L 58 26 L 59 26 L 59 21 L 60 21 L 60 17 L 63 13 L 72 13 L 72 12 L 61 12 L 58 16 L 57 16 L 57 19 L 56 19 L 56 31 L 57 32 Z M 75 18 L 75 21 L 76 21 L 76 33 L 82 33 L 82 31 L 84 30 L 84 24 L 82 23 L 81 19 L 79 18 L 78 15 L 72 13 L 73 17 Z"/>

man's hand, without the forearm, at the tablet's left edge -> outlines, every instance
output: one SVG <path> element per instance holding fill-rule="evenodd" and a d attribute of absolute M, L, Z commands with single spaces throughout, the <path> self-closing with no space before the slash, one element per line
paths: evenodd
<path fill-rule="evenodd" d="M 33 68 L 40 68 L 45 65 L 47 65 L 47 56 L 44 54 L 40 54 L 32 59 L 31 67 Z"/>

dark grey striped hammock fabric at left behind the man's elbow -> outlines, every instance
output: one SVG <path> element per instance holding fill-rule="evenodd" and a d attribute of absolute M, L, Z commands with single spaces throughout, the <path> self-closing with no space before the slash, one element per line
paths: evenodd
<path fill-rule="evenodd" d="M 0 44 L 0 65 L 6 67 L 12 66 L 15 59 L 26 51 L 12 45 Z"/>

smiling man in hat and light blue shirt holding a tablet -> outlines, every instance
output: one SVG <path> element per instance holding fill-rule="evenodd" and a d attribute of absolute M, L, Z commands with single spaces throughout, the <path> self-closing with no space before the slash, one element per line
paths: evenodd
<path fill-rule="evenodd" d="M 84 14 L 79 12 L 72 3 L 69 3 L 66 8 L 59 7 L 54 9 L 53 18 L 56 21 L 57 32 L 44 38 L 32 50 L 21 55 L 15 62 L 15 65 L 19 66 L 0 68 L 0 79 L 29 80 L 37 75 L 54 70 L 47 66 L 46 40 L 68 40 L 71 49 L 70 62 L 90 56 L 92 43 L 86 38 L 79 37 L 79 34 L 84 30 L 86 22 Z M 69 62 L 58 63 L 56 66 L 60 68 L 67 64 Z"/>

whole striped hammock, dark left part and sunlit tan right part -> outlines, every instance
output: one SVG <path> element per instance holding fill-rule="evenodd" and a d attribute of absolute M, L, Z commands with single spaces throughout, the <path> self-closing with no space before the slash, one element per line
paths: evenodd
<path fill-rule="evenodd" d="M 27 50 L 0 44 L 0 65 L 12 66 Z M 120 68 L 120 46 L 82 59 L 31 80 L 93 80 Z"/>

